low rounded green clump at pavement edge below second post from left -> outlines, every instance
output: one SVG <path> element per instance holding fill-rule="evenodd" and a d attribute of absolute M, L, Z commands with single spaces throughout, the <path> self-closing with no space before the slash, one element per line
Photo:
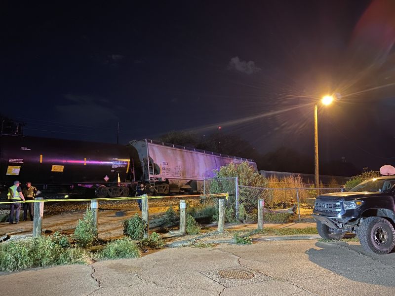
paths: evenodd
<path fill-rule="evenodd" d="M 136 243 L 130 238 L 124 237 L 106 244 L 103 250 L 98 254 L 98 258 L 103 259 L 122 259 L 138 258 L 140 250 Z"/>

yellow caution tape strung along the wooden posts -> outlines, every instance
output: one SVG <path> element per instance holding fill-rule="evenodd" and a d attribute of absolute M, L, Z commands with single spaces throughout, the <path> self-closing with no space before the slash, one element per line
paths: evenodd
<path fill-rule="evenodd" d="M 159 199 L 159 198 L 190 198 L 190 197 L 197 197 L 197 196 L 212 196 L 212 197 L 225 197 L 228 200 L 229 193 L 213 193 L 213 194 L 194 194 L 194 195 L 171 195 L 171 196 L 147 196 L 148 199 Z M 106 198 L 79 198 L 79 199 L 33 199 L 33 200 L 15 200 L 15 201 L 7 201 L 7 202 L 0 202 L 0 204 L 11 204 L 11 203 L 34 203 L 34 202 L 61 202 L 61 201 L 91 201 L 91 200 L 136 200 L 141 199 L 144 196 L 126 196 L 126 197 L 106 197 Z"/>

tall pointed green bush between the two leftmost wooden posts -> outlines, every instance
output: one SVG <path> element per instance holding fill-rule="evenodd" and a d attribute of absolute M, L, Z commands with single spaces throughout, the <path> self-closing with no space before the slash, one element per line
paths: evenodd
<path fill-rule="evenodd" d="M 86 213 L 83 215 L 83 219 L 78 221 L 72 237 L 77 245 L 88 247 L 97 241 L 97 235 L 97 227 L 93 218 L 93 212 L 86 209 Z"/>

